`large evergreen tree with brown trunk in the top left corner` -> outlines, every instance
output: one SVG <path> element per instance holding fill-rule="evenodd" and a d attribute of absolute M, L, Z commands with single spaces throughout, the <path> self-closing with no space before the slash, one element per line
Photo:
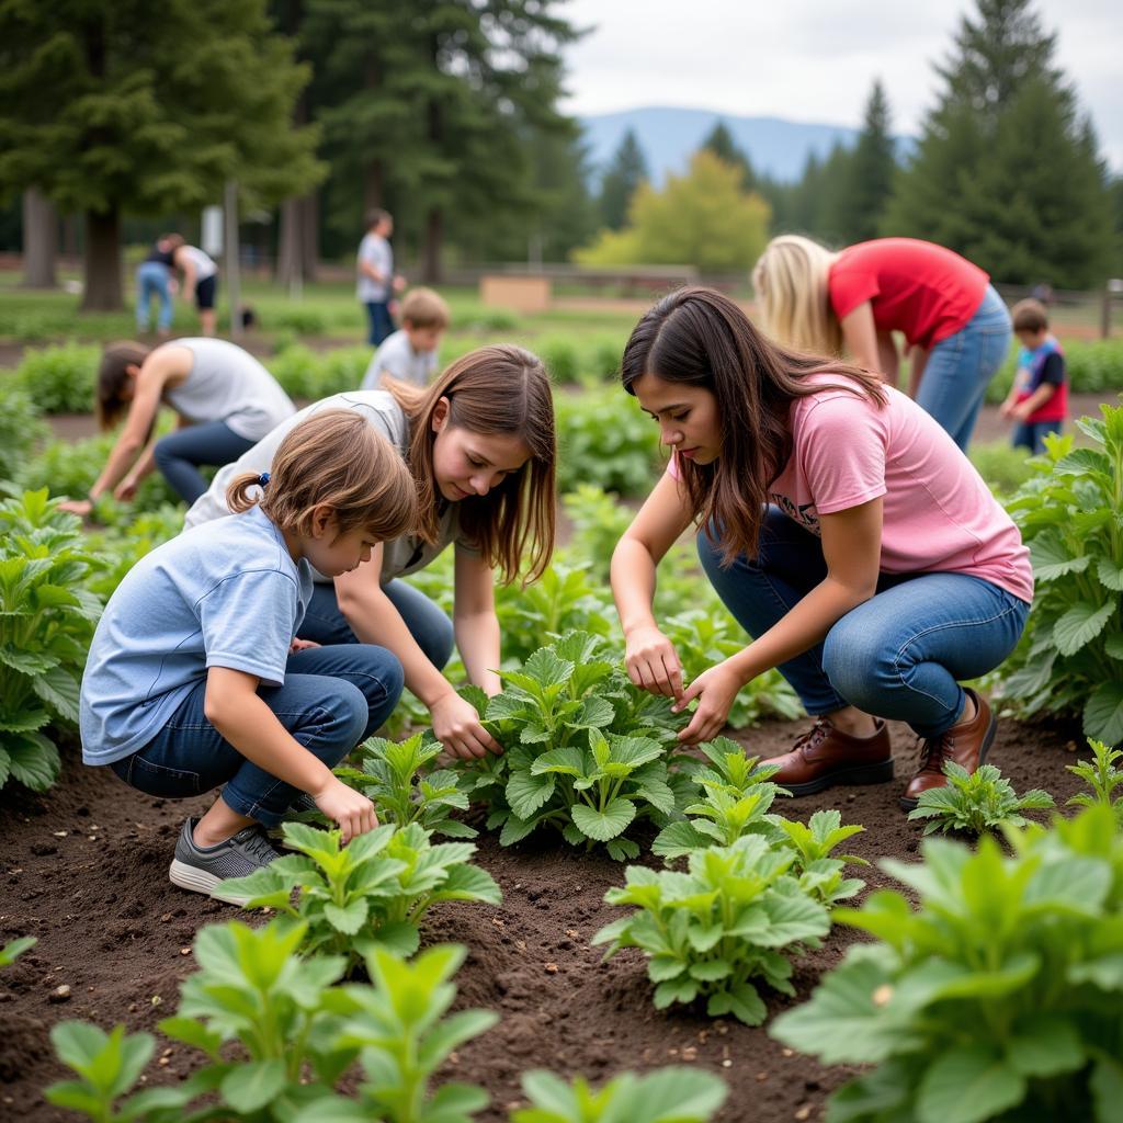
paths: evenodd
<path fill-rule="evenodd" d="M 319 174 L 290 127 L 308 73 L 264 0 L 0 3 L 0 190 L 85 216 L 82 307 L 121 300 L 122 213 L 261 204 Z"/>

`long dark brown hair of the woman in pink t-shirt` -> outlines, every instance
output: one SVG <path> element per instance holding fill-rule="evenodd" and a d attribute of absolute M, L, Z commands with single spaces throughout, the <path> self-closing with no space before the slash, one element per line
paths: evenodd
<path fill-rule="evenodd" d="M 624 390 L 634 394 L 645 374 L 716 399 L 721 456 L 707 465 L 679 459 L 678 473 L 706 535 L 718 542 L 720 531 L 723 565 L 739 554 L 756 556 L 768 486 L 792 455 L 792 402 L 827 389 L 886 402 L 875 375 L 778 347 L 728 296 L 694 286 L 664 296 L 636 325 L 621 362 Z M 813 374 L 839 382 L 812 385 Z"/>

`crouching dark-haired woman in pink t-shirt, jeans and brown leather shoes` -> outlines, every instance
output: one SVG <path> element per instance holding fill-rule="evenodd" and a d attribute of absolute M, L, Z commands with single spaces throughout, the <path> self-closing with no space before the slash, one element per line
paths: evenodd
<path fill-rule="evenodd" d="M 612 557 L 637 686 L 697 701 L 712 739 L 737 692 L 778 667 L 814 728 L 776 758 L 793 794 L 888 780 L 884 719 L 923 739 L 902 803 L 974 772 L 995 721 L 959 685 L 994 669 L 1033 596 L 1029 551 L 951 438 L 906 395 L 837 359 L 779 348 L 728 298 L 682 289 L 637 325 L 624 389 L 673 449 Z M 692 523 L 721 599 L 754 637 L 684 687 L 652 614 L 656 567 Z"/>

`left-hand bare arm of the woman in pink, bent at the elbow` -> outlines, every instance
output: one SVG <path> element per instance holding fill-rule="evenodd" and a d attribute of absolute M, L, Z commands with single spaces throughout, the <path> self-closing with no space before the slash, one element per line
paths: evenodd
<path fill-rule="evenodd" d="M 678 481 L 664 474 L 612 551 L 610 581 L 626 640 L 631 681 L 652 694 L 679 697 L 683 673 L 674 645 L 652 612 L 655 570 L 693 521 Z"/>

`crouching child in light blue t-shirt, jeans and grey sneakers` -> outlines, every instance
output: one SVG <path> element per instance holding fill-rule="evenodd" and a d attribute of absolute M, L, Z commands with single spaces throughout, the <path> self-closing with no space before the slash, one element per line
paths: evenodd
<path fill-rule="evenodd" d="M 402 666 L 382 647 L 296 640 L 312 572 L 367 563 L 412 530 L 417 490 L 398 450 L 349 411 L 325 410 L 281 442 L 272 473 L 230 484 L 234 514 L 188 530 L 126 575 L 82 678 L 82 758 L 162 798 L 222 786 L 175 844 L 172 883 L 211 893 L 276 857 L 301 793 L 344 841 L 377 820 L 331 773 L 389 716 Z"/>

